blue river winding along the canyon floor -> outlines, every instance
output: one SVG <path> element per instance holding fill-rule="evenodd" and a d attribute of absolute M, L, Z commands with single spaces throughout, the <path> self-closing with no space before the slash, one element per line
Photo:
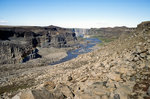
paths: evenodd
<path fill-rule="evenodd" d="M 56 65 L 59 63 L 66 62 L 68 60 L 71 60 L 73 58 L 76 58 L 80 54 L 88 53 L 93 50 L 93 47 L 97 44 L 100 43 L 101 41 L 98 38 L 86 38 L 84 40 L 85 44 L 80 44 L 78 49 L 71 50 L 67 52 L 67 56 L 64 57 L 63 59 L 56 61 L 50 65 Z"/>

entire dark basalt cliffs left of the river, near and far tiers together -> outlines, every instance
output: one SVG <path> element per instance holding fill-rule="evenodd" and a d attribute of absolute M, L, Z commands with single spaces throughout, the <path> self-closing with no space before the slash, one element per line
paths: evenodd
<path fill-rule="evenodd" d="M 71 29 L 0 26 L 0 64 L 39 58 L 36 47 L 68 47 L 75 41 L 76 34 Z"/>

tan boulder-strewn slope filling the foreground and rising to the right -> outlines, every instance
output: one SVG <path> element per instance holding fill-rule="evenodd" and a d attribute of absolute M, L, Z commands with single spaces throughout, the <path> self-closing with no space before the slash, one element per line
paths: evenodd
<path fill-rule="evenodd" d="M 13 75 L 1 98 L 150 99 L 150 22 L 94 52 Z"/>

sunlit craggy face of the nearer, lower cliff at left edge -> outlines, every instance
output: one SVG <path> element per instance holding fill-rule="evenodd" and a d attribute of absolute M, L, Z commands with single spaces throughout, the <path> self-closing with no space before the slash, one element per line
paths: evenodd
<path fill-rule="evenodd" d="M 31 51 L 31 46 L 0 42 L 0 64 L 20 63 Z"/>

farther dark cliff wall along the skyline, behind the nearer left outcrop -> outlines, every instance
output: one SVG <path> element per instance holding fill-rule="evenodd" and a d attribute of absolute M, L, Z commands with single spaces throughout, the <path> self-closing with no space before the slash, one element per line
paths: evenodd
<path fill-rule="evenodd" d="M 76 34 L 70 29 L 60 27 L 0 27 L 0 40 L 11 40 L 10 37 L 19 38 L 32 44 L 34 47 L 65 47 L 67 43 L 76 40 Z"/>

